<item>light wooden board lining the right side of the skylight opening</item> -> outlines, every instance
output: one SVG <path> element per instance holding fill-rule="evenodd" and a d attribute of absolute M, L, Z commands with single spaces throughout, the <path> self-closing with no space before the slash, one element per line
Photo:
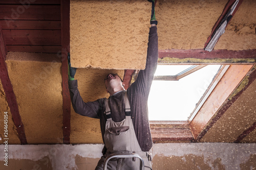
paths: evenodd
<path fill-rule="evenodd" d="M 233 90 L 239 86 L 251 68 L 252 65 L 231 65 L 228 68 L 221 81 L 211 92 L 209 99 L 206 100 L 189 124 L 191 132 L 197 141 L 200 141 L 207 131 L 231 106 L 234 99 L 237 99 L 237 95 L 233 97 L 232 100 L 228 100 L 228 97 L 232 94 Z M 240 94 L 242 93 L 241 91 L 239 92 Z"/>

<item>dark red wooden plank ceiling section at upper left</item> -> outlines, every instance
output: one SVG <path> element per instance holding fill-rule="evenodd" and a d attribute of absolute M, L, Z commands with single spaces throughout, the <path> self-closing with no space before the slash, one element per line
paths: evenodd
<path fill-rule="evenodd" d="M 57 53 L 61 50 L 60 1 L 0 1 L 0 25 L 7 50 Z"/>

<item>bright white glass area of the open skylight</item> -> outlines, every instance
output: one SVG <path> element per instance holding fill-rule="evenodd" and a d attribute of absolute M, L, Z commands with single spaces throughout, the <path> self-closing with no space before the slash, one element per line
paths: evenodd
<path fill-rule="evenodd" d="M 179 81 L 154 80 L 148 97 L 150 120 L 186 121 L 221 65 L 207 65 Z M 155 76 L 175 76 L 191 65 L 158 65 Z"/>

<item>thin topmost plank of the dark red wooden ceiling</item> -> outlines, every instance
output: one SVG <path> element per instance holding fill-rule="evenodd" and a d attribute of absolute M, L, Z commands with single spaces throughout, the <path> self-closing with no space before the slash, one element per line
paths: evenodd
<path fill-rule="evenodd" d="M 60 0 L 0 0 L 0 4 L 55 4 L 60 5 Z"/>

